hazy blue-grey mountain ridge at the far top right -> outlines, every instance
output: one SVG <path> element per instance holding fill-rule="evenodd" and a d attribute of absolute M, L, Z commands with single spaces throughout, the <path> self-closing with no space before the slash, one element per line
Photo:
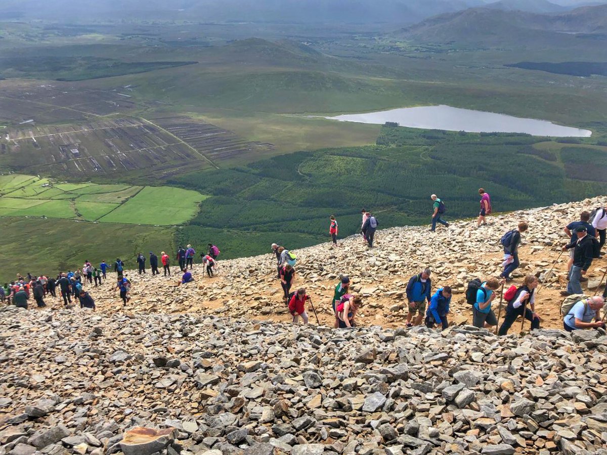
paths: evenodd
<path fill-rule="evenodd" d="M 469 8 L 433 16 L 405 27 L 397 35 L 420 42 L 504 45 L 531 43 L 563 33 L 589 34 L 598 39 L 607 39 L 607 4 L 576 8 L 559 14 L 492 7 Z"/>

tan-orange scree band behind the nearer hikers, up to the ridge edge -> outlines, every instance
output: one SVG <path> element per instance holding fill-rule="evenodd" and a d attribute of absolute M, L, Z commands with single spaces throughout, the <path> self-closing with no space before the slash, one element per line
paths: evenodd
<path fill-rule="evenodd" d="M 542 326 L 562 328 L 559 315 L 566 288 L 566 263 L 563 253 L 548 277 L 560 248 L 568 243 L 563 227 L 579 219 L 580 212 L 605 206 L 607 197 L 512 212 L 489 217 L 489 226 L 475 229 L 475 221 L 455 221 L 449 229 L 437 227 L 435 233 L 425 226 L 393 227 L 376 233 L 376 248 L 368 249 L 359 236 L 341 240 L 341 246 L 330 243 L 299 249 L 296 270 L 298 277 L 293 290 L 305 286 L 311 295 L 321 324 L 333 325 L 331 298 L 340 274 L 347 274 L 354 292 L 363 295 L 365 306 L 359 322 L 398 328 L 407 315 L 405 287 L 413 274 L 423 268 L 432 268 L 433 292 L 439 286 L 450 285 L 455 291 L 450 320 L 471 322 L 471 307 L 465 303 L 464 291 L 472 278 L 497 277 L 501 271 L 503 248 L 501 236 L 527 221 L 529 230 L 523 234 L 520 247 L 521 266 L 514 272 L 518 285 L 526 274 L 535 274 L 544 281 L 537 296 L 537 311 L 543 318 Z M 448 216 L 447 216 L 447 219 Z M 379 215 L 381 223 L 381 215 Z M 286 245 L 288 248 L 288 245 Z M 270 245 L 268 245 L 270 249 Z M 253 317 L 274 322 L 291 321 L 291 315 L 282 303 L 282 289 L 276 278 L 274 255 L 239 258 L 222 261 L 214 278 L 207 278 L 202 265 L 194 266 L 195 282 L 174 291 L 175 280 L 181 275 L 164 278 L 151 274 L 128 273 L 133 282 L 129 311 L 197 312 L 228 317 Z M 589 281 L 583 287 L 588 294 L 602 292 L 598 288 L 607 259 L 594 260 L 589 269 Z M 173 267 L 173 271 L 177 271 Z M 116 292 L 115 274 L 101 288 L 90 288 L 102 311 L 122 311 L 122 302 Z M 497 304 L 494 302 L 497 314 Z M 505 306 L 505 304 L 504 304 Z M 316 322 L 311 311 L 311 320 Z M 503 313 L 502 313 L 503 314 Z M 527 329 L 529 326 L 527 325 Z M 514 331 L 514 327 L 512 329 Z"/>

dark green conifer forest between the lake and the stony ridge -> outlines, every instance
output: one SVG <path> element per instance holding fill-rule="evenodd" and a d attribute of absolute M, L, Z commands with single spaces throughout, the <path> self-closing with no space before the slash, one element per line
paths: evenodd
<path fill-rule="evenodd" d="M 428 223 L 432 193 L 446 201 L 447 218 L 475 216 L 479 187 L 497 211 L 604 194 L 606 163 L 601 146 L 383 127 L 375 146 L 297 152 L 169 183 L 212 194 L 178 238 L 202 243 L 219 235 L 225 257 L 234 257 L 245 239 L 251 254 L 265 252 L 272 239 L 291 248 L 327 240 L 331 214 L 342 236 L 355 234 L 361 207 L 382 227 Z M 589 167 L 596 172 L 583 170 Z"/>

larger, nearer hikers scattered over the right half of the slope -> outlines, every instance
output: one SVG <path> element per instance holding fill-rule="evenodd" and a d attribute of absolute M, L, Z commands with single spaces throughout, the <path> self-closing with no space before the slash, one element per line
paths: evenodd
<path fill-rule="evenodd" d="M 476 227 L 479 228 L 487 224 L 487 215 L 492 212 L 489 194 L 483 189 L 478 190 L 480 195 L 480 212 Z M 446 212 L 444 202 L 435 194 L 431 195 L 432 206 L 432 227 L 430 231 L 436 230 L 437 224 L 443 224 L 449 227 L 449 223 L 441 218 Z M 361 234 L 369 248 L 373 248 L 373 238 L 378 221 L 365 209 L 362 209 Z M 503 247 L 503 272 L 498 278 L 487 278 L 481 281 L 478 278 L 470 281 L 466 292 L 466 300 L 472 305 L 472 323 L 478 328 L 495 327 L 499 335 L 506 335 L 518 317 L 531 323 L 531 329 L 540 328 L 541 318 L 535 311 L 535 297 L 538 292 L 538 277 L 527 275 L 520 286 L 509 286 L 504 292 L 504 286 L 513 280 L 512 272 L 519 266 L 518 247 L 521 244 L 521 234 L 527 231 L 528 224 L 524 221 L 518 223 L 515 229 L 504 233 L 500 243 Z M 580 220 L 573 221 L 565 226 L 566 235 L 570 236 L 570 241 L 562 247 L 563 251 L 569 251 L 570 259 L 568 263 L 568 286 L 561 295 L 566 297 L 561 305 L 561 315 L 563 316 L 563 328 L 566 331 L 585 328 L 605 328 L 605 322 L 600 318 L 600 309 L 607 300 L 607 286 L 603 295 L 586 297 L 583 295 L 581 282 L 587 281 L 583 277 L 588 271 L 592 260 L 602 258 L 601 250 L 605 245 L 607 230 L 607 207 L 597 207 L 592 212 L 583 211 L 580 214 Z M 330 217 L 329 234 L 334 245 L 337 244 L 337 221 L 334 215 Z M 598 238 L 597 238 L 598 237 Z M 306 295 L 305 288 L 300 288 L 297 292 L 290 292 L 291 284 L 295 277 L 296 255 L 276 243 L 272 244 L 274 254 L 277 260 L 277 278 L 283 289 L 283 300 L 293 315 L 293 322 L 297 323 L 299 317 L 302 317 L 304 323 L 308 323 L 308 315 L 305 312 L 304 303 L 310 300 Z M 560 255 L 559 255 L 560 258 Z M 554 261 L 557 263 L 558 258 Z M 554 265 L 552 268 L 554 268 Z M 552 272 L 549 272 L 549 274 Z M 429 328 L 439 325 L 441 329 L 449 327 L 447 315 L 452 298 L 452 289 L 450 286 L 442 286 L 432 294 L 432 279 L 429 268 L 424 269 L 419 274 L 413 275 L 407 284 L 406 294 L 408 301 L 407 308 L 407 327 L 421 325 L 422 322 Z M 544 275 L 544 280 L 549 278 L 549 274 Z M 607 274 L 607 272 L 606 272 Z M 604 282 L 605 274 L 603 274 Z M 599 285 L 600 287 L 600 285 Z M 351 294 L 350 278 L 341 277 L 337 283 L 331 307 L 335 317 L 335 328 L 347 328 L 356 325 L 356 312 L 362 306 L 362 298 L 359 295 Z M 598 289 L 598 288 L 597 288 Z M 498 292 L 499 291 L 499 292 Z M 500 300 L 500 311 L 498 315 L 493 312 L 492 304 L 495 298 Z M 498 328 L 501 318 L 501 303 L 506 303 L 504 317 Z"/>

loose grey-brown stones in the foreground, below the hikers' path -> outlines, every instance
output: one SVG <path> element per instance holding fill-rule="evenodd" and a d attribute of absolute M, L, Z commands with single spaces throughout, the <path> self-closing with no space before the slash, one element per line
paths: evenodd
<path fill-rule="evenodd" d="M 597 331 L 1 316 L 2 455 L 607 454 Z"/>

